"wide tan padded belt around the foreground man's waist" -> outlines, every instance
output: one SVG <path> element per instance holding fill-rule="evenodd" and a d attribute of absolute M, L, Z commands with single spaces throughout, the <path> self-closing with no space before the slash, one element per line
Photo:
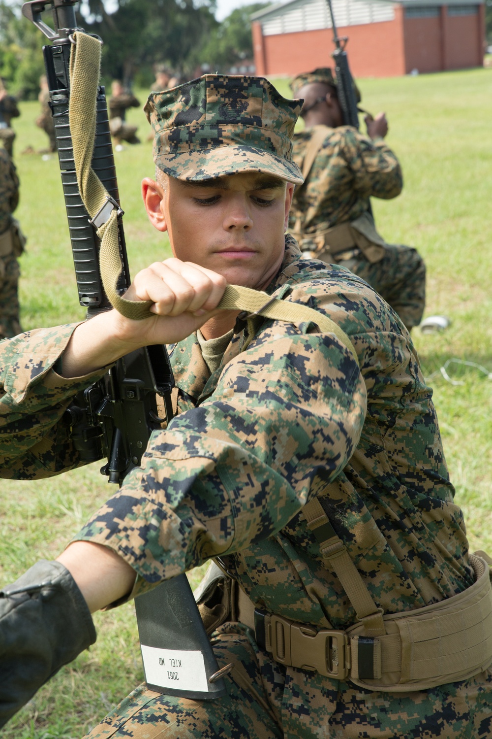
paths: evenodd
<path fill-rule="evenodd" d="M 381 636 L 366 636 L 360 623 L 318 629 L 257 610 L 240 588 L 238 621 L 254 629 L 260 647 L 285 667 L 373 690 L 426 690 L 466 680 L 492 664 L 491 576 L 482 556 L 471 554 L 470 563 L 474 585 L 440 603 L 383 616 Z"/>

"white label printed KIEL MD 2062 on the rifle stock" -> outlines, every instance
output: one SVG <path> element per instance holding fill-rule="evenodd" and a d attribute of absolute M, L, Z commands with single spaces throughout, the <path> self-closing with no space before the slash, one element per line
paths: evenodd
<path fill-rule="evenodd" d="M 187 650 L 159 649 L 140 644 L 145 681 L 176 690 L 209 692 L 204 655 Z"/>

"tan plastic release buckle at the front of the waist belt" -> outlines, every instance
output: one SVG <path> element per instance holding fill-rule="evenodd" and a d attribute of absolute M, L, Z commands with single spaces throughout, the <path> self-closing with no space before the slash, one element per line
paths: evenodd
<path fill-rule="evenodd" d="M 274 660 L 316 670 L 334 680 L 344 680 L 350 672 L 350 644 L 344 631 L 321 629 L 299 624 L 281 616 L 270 617 L 271 651 Z"/>

